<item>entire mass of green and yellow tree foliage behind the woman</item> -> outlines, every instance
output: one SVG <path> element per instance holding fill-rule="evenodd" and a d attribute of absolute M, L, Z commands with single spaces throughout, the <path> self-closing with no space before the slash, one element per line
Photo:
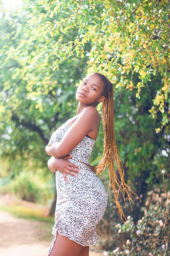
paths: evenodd
<path fill-rule="evenodd" d="M 169 155 L 167 10 L 167 0 L 24 0 L 18 10 L 2 10 L 0 154 L 14 176 L 22 171 L 18 156 L 52 175 L 44 146 L 76 114 L 73 85 L 99 71 L 115 88 L 126 180 L 143 198 L 160 182 L 157 170 L 168 167 Z M 91 164 L 102 151 L 101 126 Z"/>

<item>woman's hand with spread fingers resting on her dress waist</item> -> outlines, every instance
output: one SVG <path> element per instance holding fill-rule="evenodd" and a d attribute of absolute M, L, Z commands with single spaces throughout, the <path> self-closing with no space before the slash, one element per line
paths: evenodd
<path fill-rule="evenodd" d="M 79 166 L 67 161 L 67 159 L 71 157 L 72 155 L 68 155 L 62 158 L 51 157 L 48 160 L 48 168 L 50 169 L 50 171 L 55 172 L 56 170 L 58 170 L 59 172 L 61 172 L 67 183 L 68 179 L 66 173 L 74 177 L 77 177 L 77 173 L 81 173 L 79 170 Z"/>

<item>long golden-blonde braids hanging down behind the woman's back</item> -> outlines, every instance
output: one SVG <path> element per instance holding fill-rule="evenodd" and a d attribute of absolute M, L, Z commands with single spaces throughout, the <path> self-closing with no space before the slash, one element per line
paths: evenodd
<path fill-rule="evenodd" d="M 119 192 L 123 195 L 123 199 L 125 202 L 125 194 L 128 195 L 129 202 L 133 202 L 129 191 L 135 194 L 132 189 L 125 183 L 124 181 L 124 169 L 122 165 L 122 161 L 119 157 L 119 153 L 116 146 L 115 141 L 115 133 L 114 133 L 114 99 L 113 99 L 113 84 L 107 79 L 106 76 L 98 74 L 102 81 L 104 82 L 104 96 L 105 99 L 102 104 L 102 122 L 103 122 L 103 131 L 104 131 L 104 151 L 102 158 L 98 165 L 93 167 L 95 173 L 99 175 L 104 171 L 106 166 L 108 165 L 109 170 L 109 188 L 113 188 L 115 202 L 117 204 L 118 210 L 120 212 L 121 219 L 125 218 L 125 215 L 122 210 L 122 206 L 118 201 Z M 120 180 L 118 179 L 115 173 L 115 162 L 117 164 L 117 169 L 120 175 Z M 117 188 L 117 189 L 116 189 Z M 136 194 L 135 194 L 136 195 Z"/>

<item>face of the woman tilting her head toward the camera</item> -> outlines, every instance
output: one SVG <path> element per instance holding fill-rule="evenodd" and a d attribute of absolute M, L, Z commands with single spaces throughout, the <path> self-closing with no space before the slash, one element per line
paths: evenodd
<path fill-rule="evenodd" d="M 104 100 L 104 82 L 98 74 L 87 75 L 76 92 L 77 101 L 87 106 L 97 106 Z"/>

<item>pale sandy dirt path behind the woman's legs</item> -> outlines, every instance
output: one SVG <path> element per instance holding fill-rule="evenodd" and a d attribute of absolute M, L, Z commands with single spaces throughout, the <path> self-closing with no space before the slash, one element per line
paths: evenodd
<path fill-rule="evenodd" d="M 17 218 L 0 211 L 0 255 L 47 256 L 49 242 L 42 238 L 43 222 Z M 89 256 L 102 256 L 91 252 Z"/>

